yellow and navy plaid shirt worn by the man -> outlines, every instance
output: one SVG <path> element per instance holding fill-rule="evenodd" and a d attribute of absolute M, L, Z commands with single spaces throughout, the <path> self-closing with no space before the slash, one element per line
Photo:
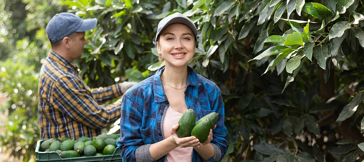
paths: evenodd
<path fill-rule="evenodd" d="M 51 51 L 40 70 L 38 97 L 41 139 L 95 137 L 114 123 L 122 100 L 102 106 L 122 95 L 121 84 L 91 89 L 78 67 Z"/>

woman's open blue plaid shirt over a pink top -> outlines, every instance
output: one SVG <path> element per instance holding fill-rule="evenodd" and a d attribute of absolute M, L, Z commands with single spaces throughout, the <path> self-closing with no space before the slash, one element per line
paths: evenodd
<path fill-rule="evenodd" d="M 152 162 L 149 146 L 165 139 L 163 119 L 169 102 L 161 82 L 164 68 L 165 66 L 159 68 L 156 74 L 134 85 L 124 94 L 120 120 L 121 138 L 117 142 L 122 150 L 123 161 Z M 196 74 L 191 67 L 187 69 L 185 100 L 187 108 L 193 109 L 196 113 L 196 121 L 211 112 L 219 114 L 217 126 L 213 129 L 213 140 L 210 142 L 215 155 L 209 161 L 221 161 L 227 151 L 228 143 L 220 89 L 215 83 Z M 157 162 L 165 162 L 166 158 L 165 155 Z M 193 150 L 192 162 L 202 161 L 197 151 Z"/>

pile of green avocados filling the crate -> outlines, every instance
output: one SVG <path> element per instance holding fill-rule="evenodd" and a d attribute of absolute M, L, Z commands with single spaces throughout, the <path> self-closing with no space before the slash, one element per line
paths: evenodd
<path fill-rule="evenodd" d="M 40 151 L 56 151 L 62 158 L 112 155 L 117 147 L 116 141 L 119 139 L 119 134 L 100 134 L 93 139 L 80 137 L 77 140 L 67 137 L 51 138 L 40 145 Z"/>

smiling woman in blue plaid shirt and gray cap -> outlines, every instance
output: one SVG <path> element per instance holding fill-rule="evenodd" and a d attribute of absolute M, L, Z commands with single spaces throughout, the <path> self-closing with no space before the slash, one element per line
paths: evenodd
<path fill-rule="evenodd" d="M 195 53 L 197 29 L 181 13 L 158 24 L 155 45 L 165 66 L 133 86 L 123 97 L 117 142 L 126 162 L 221 161 L 226 153 L 224 106 L 219 88 L 187 66 Z M 178 121 L 193 109 L 196 121 L 216 112 L 219 119 L 206 142 L 178 138 Z"/>

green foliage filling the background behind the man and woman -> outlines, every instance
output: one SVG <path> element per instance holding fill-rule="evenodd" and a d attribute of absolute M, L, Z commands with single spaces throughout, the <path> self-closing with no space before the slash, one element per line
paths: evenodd
<path fill-rule="evenodd" d="M 98 19 L 76 61 L 90 87 L 153 75 L 159 20 L 190 17 L 199 31 L 190 66 L 225 101 L 223 161 L 364 159 L 362 0 L 0 0 L 1 111 L 9 121 L 0 142 L 23 161 L 33 160 L 39 139 L 44 28 L 63 11 Z"/>

